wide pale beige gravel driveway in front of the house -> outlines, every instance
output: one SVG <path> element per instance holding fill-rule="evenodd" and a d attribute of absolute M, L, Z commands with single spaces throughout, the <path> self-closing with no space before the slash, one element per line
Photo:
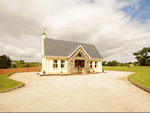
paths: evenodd
<path fill-rule="evenodd" d="M 150 111 L 150 93 L 127 80 L 133 72 L 107 71 L 92 75 L 43 76 L 15 73 L 22 88 L 0 93 L 1 112 Z"/>

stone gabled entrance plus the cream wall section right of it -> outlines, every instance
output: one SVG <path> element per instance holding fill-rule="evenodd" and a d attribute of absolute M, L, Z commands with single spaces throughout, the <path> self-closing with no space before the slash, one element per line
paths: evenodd
<path fill-rule="evenodd" d="M 79 71 L 86 74 L 89 70 L 102 72 L 101 62 L 102 60 L 100 59 L 92 59 L 80 45 L 71 53 L 71 55 L 69 55 L 68 72 L 71 74 L 78 73 Z"/>

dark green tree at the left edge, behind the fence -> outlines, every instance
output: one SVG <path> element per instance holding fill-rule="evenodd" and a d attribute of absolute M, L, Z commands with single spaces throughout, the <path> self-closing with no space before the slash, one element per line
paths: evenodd
<path fill-rule="evenodd" d="M 11 67 L 11 59 L 9 56 L 0 56 L 0 69 L 6 69 Z"/>

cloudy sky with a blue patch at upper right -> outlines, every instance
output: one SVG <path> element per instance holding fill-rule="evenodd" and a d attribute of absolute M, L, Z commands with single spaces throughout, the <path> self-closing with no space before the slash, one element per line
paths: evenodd
<path fill-rule="evenodd" d="M 135 62 L 150 47 L 150 0 L 0 0 L 0 55 L 41 62 L 43 28 L 95 45 L 103 60 Z"/>

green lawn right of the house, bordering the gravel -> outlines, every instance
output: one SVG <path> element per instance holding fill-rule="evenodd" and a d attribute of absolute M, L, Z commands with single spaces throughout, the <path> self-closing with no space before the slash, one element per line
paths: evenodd
<path fill-rule="evenodd" d="M 129 75 L 129 79 L 132 82 L 150 90 L 150 67 L 148 66 L 135 66 L 134 68 L 129 68 L 126 66 L 102 66 L 102 67 L 103 70 L 137 72 L 135 74 Z"/>

